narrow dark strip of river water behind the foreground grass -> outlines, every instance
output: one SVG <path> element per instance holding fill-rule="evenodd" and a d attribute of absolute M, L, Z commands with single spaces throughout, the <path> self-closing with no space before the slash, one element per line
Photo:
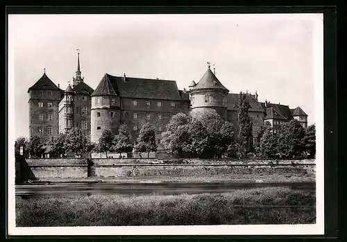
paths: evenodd
<path fill-rule="evenodd" d="M 288 183 L 160 183 L 160 184 L 27 184 L 17 185 L 16 195 L 91 196 L 92 194 L 119 195 L 176 195 L 181 193 L 223 193 L 237 189 L 260 187 L 289 187 L 296 191 L 315 193 L 315 182 Z"/>

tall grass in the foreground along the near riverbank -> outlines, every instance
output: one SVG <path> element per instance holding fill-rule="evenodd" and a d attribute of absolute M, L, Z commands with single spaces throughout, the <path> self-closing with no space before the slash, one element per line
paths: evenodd
<path fill-rule="evenodd" d="M 268 187 L 178 196 L 17 198 L 17 227 L 315 223 L 315 196 Z"/>

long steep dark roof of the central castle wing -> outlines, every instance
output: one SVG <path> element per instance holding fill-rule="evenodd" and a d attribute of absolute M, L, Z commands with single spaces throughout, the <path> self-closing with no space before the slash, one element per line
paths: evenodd
<path fill-rule="evenodd" d="M 105 74 L 103 79 L 106 77 L 110 80 L 116 94 L 122 97 L 169 100 L 181 99 L 176 81 L 174 80 L 132 78 L 111 76 L 110 74 Z M 101 80 L 101 82 L 102 81 L 103 80 Z M 97 88 L 92 96 L 96 96 L 95 94 L 99 93 L 96 91 Z"/>

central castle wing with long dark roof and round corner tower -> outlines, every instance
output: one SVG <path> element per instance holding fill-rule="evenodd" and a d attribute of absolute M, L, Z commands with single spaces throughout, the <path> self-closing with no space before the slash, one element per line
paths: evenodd
<path fill-rule="evenodd" d="M 92 94 L 91 140 L 97 143 L 103 130 L 117 133 L 125 123 L 135 143 L 144 123 L 151 123 L 160 149 L 161 134 L 171 116 L 188 110 L 189 94 L 178 90 L 174 80 L 105 74 Z"/>

